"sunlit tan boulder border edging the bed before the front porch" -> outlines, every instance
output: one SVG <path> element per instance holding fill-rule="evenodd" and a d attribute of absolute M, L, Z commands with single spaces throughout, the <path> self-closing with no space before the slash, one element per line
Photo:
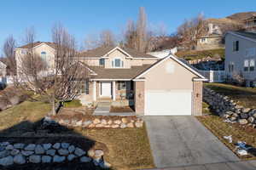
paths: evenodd
<path fill-rule="evenodd" d="M 45 127 L 60 124 L 67 127 L 86 127 L 86 128 L 127 128 L 143 127 L 143 120 L 137 116 L 88 116 L 83 120 L 73 119 L 55 119 L 54 117 L 44 117 L 43 125 Z"/>

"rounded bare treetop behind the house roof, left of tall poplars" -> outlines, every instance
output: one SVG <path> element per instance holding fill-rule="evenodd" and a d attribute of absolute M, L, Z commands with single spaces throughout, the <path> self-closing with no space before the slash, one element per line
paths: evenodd
<path fill-rule="evenodd" d="M 104 30 L 100 34 L 100 44 L 104 47 L 113 46 L 115 44 L 115 37 L 110 30 Z"/>

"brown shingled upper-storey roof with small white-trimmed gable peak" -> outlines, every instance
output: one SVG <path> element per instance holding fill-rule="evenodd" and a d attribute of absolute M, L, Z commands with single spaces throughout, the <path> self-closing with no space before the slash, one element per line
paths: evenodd
<path fill-rule="evenodd" d="M 125 53 L 128 57 L 131 57 L 131 58 L 157 59 L 153 55 L 138 52 L 137 50 L 132 48 L 119 48 L 119 47 L 100 47 L 100 48 L 90 49 L 81 53 L 81 56 L 85 59 L 86 58 L 102 58 L 102 57 L 106 57 L 107 54 L 112 53 L 116 49 L 120 50 L 121 52 Z"/>

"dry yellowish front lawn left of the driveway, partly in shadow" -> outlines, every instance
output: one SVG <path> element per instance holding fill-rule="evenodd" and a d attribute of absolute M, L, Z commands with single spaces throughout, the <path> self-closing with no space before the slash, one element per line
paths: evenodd
<path fill-rule="evenodd" d="M 79 109 L 79 108 L 78 108 Z M 67 108 L 71 114 L 73 108 Z M 79 109 L 80 111 L 81 109 Z M 45 139 L 55 138 L 55 142 L 75 142 L 73 138 L 91 139 L 96 141 L 96 147 L 106 149 L 104 159 L 112 164 L 113 169 L 140 169 L 154 167 L 153 156 L 144 127 L 125 129 L 86 129 L 81 127 L 60 129 L 53 128 L 50 133 L 40 129 L 42 118 L 50 111 L 50 105 L 42 102 L 25 101 L 6 111 L 0 112 L 0 141 L 26 140 L 36 138 L 40 143 Z M 67 112 L 68 112 L 67 111 Z M 24 139 L 24 137 L 26 138 Z M 58 140 L 56 140 L 58 139 Z M 17 141 L 17 143 L 19 142 Z M 23 142 L 23 141 L 20 141 Z M 102 148 L 103 147 L 103 148 Z"/>

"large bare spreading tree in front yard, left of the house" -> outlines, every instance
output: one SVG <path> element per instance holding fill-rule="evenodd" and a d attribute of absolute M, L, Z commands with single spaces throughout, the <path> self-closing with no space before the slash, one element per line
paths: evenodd
<path fill-rule="evenodd" d="M 79 63 L 76 42 L 62 26 L 52 29 L 54 59 L 42 59 L 34 50 L 34 31 L 26 32 L 29 44 L 26 55 L 20 57 L 17 65 L 19 77 L 15 85 L 44 96 L 52 104 L 55 115 L 56 102 L 74 99 L 79 94 L 81 82 L 88 78 L 87 68 Z M 21 81 L 22 79 L 22 81 Z"/>

